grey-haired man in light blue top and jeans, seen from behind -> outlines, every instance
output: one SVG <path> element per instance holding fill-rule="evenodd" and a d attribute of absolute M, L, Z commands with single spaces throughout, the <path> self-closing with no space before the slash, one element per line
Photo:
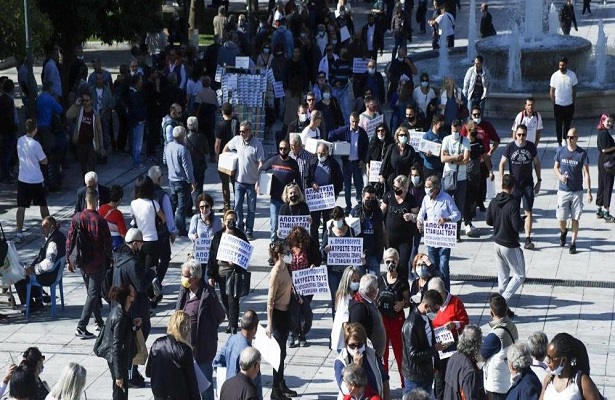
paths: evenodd
<path fill-rule="evenodd" d="M 173 138 L 174 141 L 164 148 L 162 162 L 168 168 L 175 226 L 179 230 L 179 236 L 188 236 L 186 213 L 189 212 L 189 198 L 190 193 L 195 190 L 195 181 L 192 159 L 185 146 L 186 129 L 183 126 L 173 128 Z"/>

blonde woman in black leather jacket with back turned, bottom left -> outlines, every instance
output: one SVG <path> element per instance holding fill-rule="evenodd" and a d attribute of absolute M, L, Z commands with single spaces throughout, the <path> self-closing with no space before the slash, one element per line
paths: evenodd
<path fill-rule="evenodd" d="M 188 313 L 175 311 L 167 335 L 152 344 L 145 374 L 151 378 L 154 399 L 201 399 L 190 345 L 191 324 Z"/>

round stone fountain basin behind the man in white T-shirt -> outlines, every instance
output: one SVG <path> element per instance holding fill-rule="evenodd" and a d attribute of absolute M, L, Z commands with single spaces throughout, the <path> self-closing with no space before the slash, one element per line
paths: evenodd
<path fill-rule="evenodd" d="M 476 50 L 485 58 L 492 77 L 505 79 L 508 72 L 510 34 L 498 34 L 476 42 Z M 577 76 L 585 71 L 592 55 L 592 44 L 578 36 L 543 35 L 526 42 L 521 39 L 521 77 L 523 81 L 545 81 L 547 84 L 557 70 L 561 57 L 568 57 L 568 65 Z M 573 67 L 574 66 L 574 67 Z"/>

